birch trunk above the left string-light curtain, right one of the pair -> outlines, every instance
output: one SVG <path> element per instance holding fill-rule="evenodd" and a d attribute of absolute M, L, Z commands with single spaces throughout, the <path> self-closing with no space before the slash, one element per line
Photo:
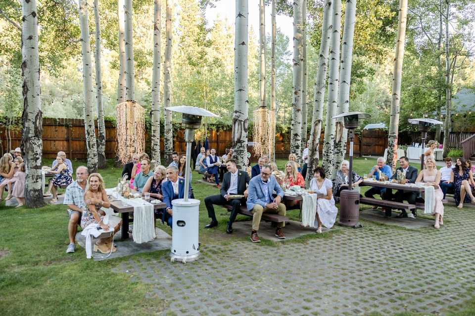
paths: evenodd
<path fill-rule="evenodd" d="M 135 101 L 132 0 L 125 0 L 125 98 Z"/>

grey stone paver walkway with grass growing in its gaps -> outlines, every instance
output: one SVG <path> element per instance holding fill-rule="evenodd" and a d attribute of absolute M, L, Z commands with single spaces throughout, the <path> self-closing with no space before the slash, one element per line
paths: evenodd
<path fill-rule="evenodd" d="M 365 222 L 307 243 L 208 244 L 186 265 L 131 258 L 117 271 L 152 284 L 163 315 L 443 315 L 475 284 L 475 210 L 445 211 L 438 231 Z"/>

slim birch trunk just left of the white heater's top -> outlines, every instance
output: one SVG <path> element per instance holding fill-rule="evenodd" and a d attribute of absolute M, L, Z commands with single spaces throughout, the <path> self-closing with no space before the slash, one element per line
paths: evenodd
<path fill-rule="evenodd" d="M 163 76 L 163 100 L 164 108 L 172 102 L 172 0 L 166 2 L 166 24 L 165 24 L 165 67 Z M 173 125 L 172 113 L 165 110 L 165 140 L 164 140 L 165 163 L 168 165 L 172 161 L 173 153 Z"/>

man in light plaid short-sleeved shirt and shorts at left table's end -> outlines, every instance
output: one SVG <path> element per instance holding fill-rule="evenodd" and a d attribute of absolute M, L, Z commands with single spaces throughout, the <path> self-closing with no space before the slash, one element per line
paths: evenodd
<path fill-rule="evenodd" d="M 71 253 L 76 250 L 76 233 L 78 232 L 78 225 L 81 224 L 83 210 L 86 209 L 84 192 L 86 190 L 88 176 L 89 170 L 87 167 L 78 167 L 76 169 L 76 181 L 72 182 L 66 188 L 66 194 L 64 195 L 63 201 L 63 204 L 66 204 L 69 207 L 69 245 L 66 249 L 66 253 Z"/>

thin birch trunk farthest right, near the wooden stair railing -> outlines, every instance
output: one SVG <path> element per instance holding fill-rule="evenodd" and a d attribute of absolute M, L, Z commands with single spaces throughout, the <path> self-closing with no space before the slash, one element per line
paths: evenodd
<path fill-rule="evenodd" d="M 445 0 L 445 122 L 444 122 L 444 152 L 443 156 L 447 157 L 449 152 L 449 136 L 450 125 L 452 124 L 452 87 L 450 84 L 450 50 L 449 50 L 449 13 L 450 1 Z"/>

